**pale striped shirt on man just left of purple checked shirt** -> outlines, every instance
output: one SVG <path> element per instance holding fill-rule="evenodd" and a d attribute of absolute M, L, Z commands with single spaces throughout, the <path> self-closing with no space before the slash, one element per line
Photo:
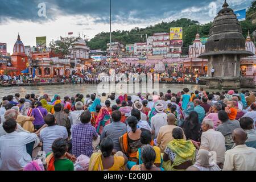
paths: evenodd
<path fill-rule="evenodd" d="M 43 150 L 46 154 L 52 151 L 52 143 L 58 138 L 68 138 L 68 131 L 64 126 L 48 126 L 40 131 L 40 140 L 43 142 Z"/>

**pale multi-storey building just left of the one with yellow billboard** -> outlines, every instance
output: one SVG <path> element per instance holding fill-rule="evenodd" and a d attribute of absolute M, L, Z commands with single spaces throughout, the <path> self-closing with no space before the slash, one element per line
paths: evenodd
<path fill-rule="evenodd" d="M 163 32 L 153 35 L 153 55 L 163 55 L 163 57 L 167 57 L 169 47 L 170 34 Z"/>

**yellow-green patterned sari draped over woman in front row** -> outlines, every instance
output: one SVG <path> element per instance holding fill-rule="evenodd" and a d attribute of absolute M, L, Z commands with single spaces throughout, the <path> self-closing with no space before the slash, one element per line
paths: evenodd
<path fill-rule="evenodd" d="M 170 150 L 174 152 L 176 156 L 172 164 L 170 160 L 168 162 L 163 162 L 163 168 L 166 171 L 177 171 L 177 169 L 174 167 L 179 166 L 188 160 L 195 163 L 196 148 L 191 140 L 173 139 L 167 144 L 167 147 L 170 148 Z"/>

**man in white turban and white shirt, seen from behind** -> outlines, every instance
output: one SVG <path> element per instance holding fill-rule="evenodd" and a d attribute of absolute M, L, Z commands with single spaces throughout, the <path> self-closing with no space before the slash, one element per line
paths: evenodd
<path fill-rule="evenodd" d="M 164 105 L 156 104 L 155 111 L 156 114 L 151 118 L 151 129 L 154 138 L 158 137 L 160 127 L 167 125 L 167 114 L 164 113 Z"/>

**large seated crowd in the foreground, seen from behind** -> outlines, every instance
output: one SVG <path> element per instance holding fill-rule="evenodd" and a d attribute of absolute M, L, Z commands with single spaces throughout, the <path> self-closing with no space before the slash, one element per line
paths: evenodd
<path fill-rule="evenodd" d="M 2 98 L 1 171 L 256 171 L 255 92 Z"/>

